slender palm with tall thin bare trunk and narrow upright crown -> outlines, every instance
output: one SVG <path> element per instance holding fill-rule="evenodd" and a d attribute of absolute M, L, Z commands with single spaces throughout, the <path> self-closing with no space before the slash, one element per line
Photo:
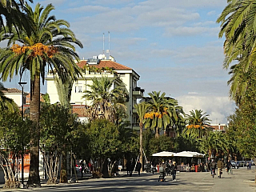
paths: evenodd
<path fill-rule="evenodd" d="M 143 130 L 143 121 L 144 121 L 144 116 L 149 109 L 149 104 L 147 102 L 142 102 L 139 104 L 135 104 L 134 108 L 137 111 L 138 114 L 138 120 L 139 120 L 139 153 L 140 153 L 140 158 L 139 161 L 142 163 L 143 162 L 143 138 L 142 138 L 142 130 Z"/>

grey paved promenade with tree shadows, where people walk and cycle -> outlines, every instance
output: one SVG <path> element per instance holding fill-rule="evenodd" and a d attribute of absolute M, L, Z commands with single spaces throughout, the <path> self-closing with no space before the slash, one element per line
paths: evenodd
<path fill-rule="evenodd" d="M 254 169 L 254 166 L 253 166 Z M 24 189 L 19 191 L 230 191 L 230 192 L 255 192 L 254 170 L 239 168 L 234 174 L 222 174 L 222 178 L 212 178 L 210 173 L 178 173 L 177 182 L 172 182 L 171 176 L 166 177 L 166 182 L 158 182 L 158 174 L 142 173 L 128 177 L 122 172 L 117 178 L 83 179 L 78 183 L 58 184 L 40 188 Z M 1 186 L 0 186 L 1 187 Z M 2 190 L 10 191 L 10 190 Z M 16 190 L 15 190 L 16 191 Z"/>

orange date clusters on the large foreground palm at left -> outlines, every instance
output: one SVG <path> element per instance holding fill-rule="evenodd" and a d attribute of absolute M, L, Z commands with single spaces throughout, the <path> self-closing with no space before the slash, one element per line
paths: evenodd
<path fill-rule="evenodd" d="M 57 48 L 54 46 L 45 46 L 42 43 L 36 43 L 34 46 L 19 46 L 14 44 L 10 48 L 16 54 L 24 54 L 26 50 L 33 50 L 31 53 L 31 57 L 36 57 L 37 55 L 42 56 L 43 54 L 47 54 L 49 58 L 52 58 L 55 53 L 57 53 Z"/>

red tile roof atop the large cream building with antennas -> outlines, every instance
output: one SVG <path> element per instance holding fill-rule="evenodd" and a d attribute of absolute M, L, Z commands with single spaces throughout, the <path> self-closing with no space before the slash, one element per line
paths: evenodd
<path fill-rule="evenodd" d="M 78 63 L 78 66 L 80 68 L 83 68 L 84 66 L 86 66 L 87 61 L 83 60 L 81 62 Z M 92 66 L 92 65 L 90 65 Z M 122 64 L 118 63 L 118 62 L 112 62 L 110 60 L 101 60 L 97 65 L 93 65 L 95 67 L 98 68 L 102 68 L 102 67 L 109 67 L 109 68 L 114 68 L 114 70 L 132 70 L 130 67 L 128 66 L 123 66 Z"/>

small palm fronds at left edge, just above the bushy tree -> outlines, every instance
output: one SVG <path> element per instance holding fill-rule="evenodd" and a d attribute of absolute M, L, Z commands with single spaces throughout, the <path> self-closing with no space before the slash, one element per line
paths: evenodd
<path fill-rule="evenodd" d="M 0 82 L 0 109 L 10 110 L 11 112 L 18 112 L 18 106 L 13 99 L 7 98 L 3 93 L 3 90 L 7 90 Z"/>

